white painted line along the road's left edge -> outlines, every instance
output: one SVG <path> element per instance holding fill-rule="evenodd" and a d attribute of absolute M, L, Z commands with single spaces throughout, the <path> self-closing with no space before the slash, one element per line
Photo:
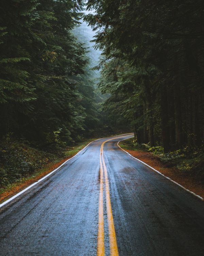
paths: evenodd
<path fill-rule="evenodd" d="M 132 132 L 131 132 L 132 133 Z M 126 134 L 129 134 L 129 133 L 125 133 L 125 134 L 120 134 L 120 135 L 126 135 Z M 119 135 L 116 135 L 116 136 L 119 136 Z M 100 138 L 100 139 L 97 139 L 97 140 L 102 140 L 102 139 L 105 139 L 105 138 L 112 138 L 112 137 L 116 137 L 116 136 L 111 136 L 111 137 L 104 137 L 104 138 Z M 92 142 L 94 141 L 97 141 L 97 140 L 93 140 L 91 142 L 88 143 L 91 144 Z M 16 195 L 14 195 L 13 197 L 7 199 L 6 201 L 4 201 L 3 203 L 0 204 L 0 208 L 2 206 L 4 206 L 5 204 L 7 204 L 8 202 L 11 202 L 12 200 L 14 200 L 16 197 L 20 196 L 21 194 L 23 194 L 25 191 L 27 191 L 28 189 L 30 189 L 31 187 L 35 186 L 37 183 L 45 180 L 48 176 L 50 176 L 52 173 L 56 172 L 58 169 L 60 169 L 60 167 L 62 167 L 67 161 L 69 161 L 70 159 L 72 159 L 73 157 L 75 157 L 76 155 L 78 155 L 81 151 L 83 151 L 88 145 L 86 145 L 84 148 L 82 148 L 82 150 L 80 150 L 77 154 L 75 154 L 74 156 L 72 156 L 71 158 L 69 158 L 68 160 L 66 160 L 64 163 L 62 163 L 62 165 L 60 165 L 59 167 L 57 167 L 56 169 L 54 169 L 53 171 L 49 172 L 47 175 L 45 175 L 44 177 L 42 177 L 40 180 L 34 182 L 33 184 L 31 184 L 30 186 L 28 186 L 27 188 L 21 190 L 19 193 L 17 193 Z"/>

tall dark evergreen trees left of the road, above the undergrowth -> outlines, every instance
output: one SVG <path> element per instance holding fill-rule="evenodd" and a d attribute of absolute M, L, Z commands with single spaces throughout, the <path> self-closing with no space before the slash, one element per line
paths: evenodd
<path fill-rule="evenodd" d="M 72 33 L 83 1 L 3 0 L 0 137 L 70 143 L 96 120 L 87 48 Z"/>

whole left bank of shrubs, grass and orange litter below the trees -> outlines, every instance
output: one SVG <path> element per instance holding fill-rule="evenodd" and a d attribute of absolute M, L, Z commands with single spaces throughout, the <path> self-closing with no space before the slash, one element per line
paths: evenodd
<path fill-rule="evenodd" d="M 53 146 L 45 151 L 28 142 L 6 138 L 0 146 L 0 200 L 51 172 L 93 140 L 86 139 L 65 148 Z"/>

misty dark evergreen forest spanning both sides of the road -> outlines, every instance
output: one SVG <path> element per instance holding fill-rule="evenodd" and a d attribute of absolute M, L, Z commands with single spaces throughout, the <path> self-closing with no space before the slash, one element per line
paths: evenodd
<path fill-rule="evenodd" d="M 0 12 L 0 186 L 34 170 L 30 152 L 132 131 L 204 173 L 204 1 L 1 0 Z"/>

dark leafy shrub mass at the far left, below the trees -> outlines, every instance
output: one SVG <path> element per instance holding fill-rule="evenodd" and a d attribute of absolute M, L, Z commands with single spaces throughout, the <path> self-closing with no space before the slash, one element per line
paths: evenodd
<path fill-rule="evenodd" d="M 28 176 L 55 158 L 54 154 L 33 148 L 28 142 L 7 136 L 0 146 L 0 187 Z"/>

